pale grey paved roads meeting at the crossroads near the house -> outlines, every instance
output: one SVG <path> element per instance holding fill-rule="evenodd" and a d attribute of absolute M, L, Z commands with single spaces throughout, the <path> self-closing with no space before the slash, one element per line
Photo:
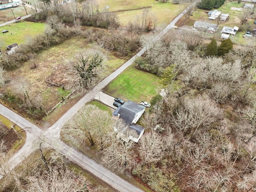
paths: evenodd
<path fill-rule="evenodd" d="M 186 12 L 186 10 L 184 10 Z M 166 34 L 168 30 L 174 27 L 175 23 L 183 16 L 184 12 L 182 12 L 178 17 L 176 17 L 160 34 L 156 36 L 152 40 L 152 42 L 159 40 L 161 36 Z M 72 117 L 78 110 L 84 106 L 87 102 L 92 100 L 95 96 L 97 96 L 107 84 L 109 84 L 114 78 L 116 78 L 121 72 L 123 72 L 128 66 L 130 66 L 137 56 L 141 56 L 148 47 L 151 46 L 151 43 L 146 45 L 140 52 L 138 52 L 135 56 L 133 56 L 130 60 L 128 60 L 125 64 L 123 64 L 120 68 L 118 68 L 115 72 L 110 74 L 107 78 L 102 80 L 97 86 L 94 87 L 93 90 L 90 90 L 82 99 L 80 99 L 70 110 L 68 110 L 54 125 L 52 125 L 48 130 L 43 131 L 38 128 L 36 125 L 32 124 L 28 120 L 22 118 L 18 114 L 12 112 L 8 108 L 0 105 L 0 114 L 6 116 L 12 122 L 24 128 L 27 133 L 26 143 L 24 146 L 15 154 L 7 163 L 7 167 L 13 169 L 16 165 L 20 164 L 24 158 L 29 156 L 35 148 L 33 148 L 34 140 L 38 140 L 40 137 L 45 138 L 46 144 L 48 146 L 57 149 L 62 154 L 65 154 L 67 158 L 71 161 L 75 162 L 76 164 L 80 165 L 82 168 L 90 171 L 92 174 L 97 176 L 98 178 L 102 179 L 110 186 L 115 188 L 120 192 L 142 192 L 142 190 L 136 188 L 132 184 L 126 182 L 116 174 L 110 172 L 103 166 L 99 165 L 98 163 L 94 162 L 84 154 L 70 148 L 64 142 L 60 140 L 60 130 L 62 126 Z M 6 172 L 8 170 L 5 170 Z M 3 177 L 0 175 L 0 178 Z"/>

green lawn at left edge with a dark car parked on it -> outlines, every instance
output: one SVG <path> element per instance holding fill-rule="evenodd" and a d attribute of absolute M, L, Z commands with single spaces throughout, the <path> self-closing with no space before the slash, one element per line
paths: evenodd
<path fill-rule="evenodd" d="M 0 46 L 2 50 L 5 50 L 5 47 L 14 43 L 21 44 L 25 42 L 28 37 L 35 36 L 44 31 L 44 23 L 35 23 L 35 22 L 18 22 L 12 23 L 6 26 L 0 27 Z M 2 33 L 2 30 L 8 30 L 7 33 Z"/>

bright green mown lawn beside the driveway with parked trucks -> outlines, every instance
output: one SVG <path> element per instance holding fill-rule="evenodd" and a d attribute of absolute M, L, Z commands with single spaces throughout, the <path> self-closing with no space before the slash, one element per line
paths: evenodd
<path fill-rule="evenodd" d="M 130 66 L 110 82 L 104 89 L 104 92 L 109 95 L 122 97 L 124 100 L 132 100 L 134 102 L 145 100 L 150 102 L 160 87 L 160 84 L 156 82 L 158 78 L 156 75 Z"/>

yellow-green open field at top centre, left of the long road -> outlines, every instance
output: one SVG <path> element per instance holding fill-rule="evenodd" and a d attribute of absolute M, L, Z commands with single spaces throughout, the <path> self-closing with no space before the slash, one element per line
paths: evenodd
<path fill-rule="evenodd" d="M 116 14 L 122 25 L 133 22 L 137 16 L 142 16 L 142 8 L 145 7 L 150 7 L 149 16 L 156 20 L 156 25 L 158 26 L 170 23 L 175 16 L 184 10 L 183 5 L 172 4 L 171 2 L 163 3 L 155 0 L 98 0 L 97 2 L 100 10 L 108 6 L 110 12 L 118 11 Z"/>

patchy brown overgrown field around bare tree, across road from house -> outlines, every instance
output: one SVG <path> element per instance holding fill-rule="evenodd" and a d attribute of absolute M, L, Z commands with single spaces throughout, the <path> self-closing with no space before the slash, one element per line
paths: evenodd
<path fill-rule="evenodd" d="M 43 50 L 36 56 L 37 68 L 32 68 L 33 64 L 29 60 L 25 62 L 20 68 L 6 72 L 8 78 L 26 78 L 30 82 L 29 94 L 31 98 L 40 98 L 40 102 L 43 110 L 50 110 L 56 105 L 62 97 L 65 97 L 70 93 L 70 90 L 62 90 L 60 87 L 52 86 L 46 82 L 46 79 L 51 78 L 55 83 L 62 84 L 62 80 L 65 80 L 66 63 L 72 60 L 77 52 L 81 50 L 90 49 L 93 44 L 88 44 L 86 39 L 71 38 L 63 43 L 50 47 L 47 50 Z M 50 54 L 49 54 L 50 53 Z M 106 52 L 106 74 L 112 73 L 119 66 L 124 63 L 123 59 L 116 58 Z M 8 87 L 7 87 L 8 88 Z M 80 94 L 74 93 L 70 98 L 78 100 Z M 50 113 L 43 120 L 49 121 L 50 124 L 58 120 L 58 118 L 64 113 L 62 110 L 67 110 L 69 103 L 74 104 L 74 101 L 63 102 L 57 107 L 54 112 Z"/>

